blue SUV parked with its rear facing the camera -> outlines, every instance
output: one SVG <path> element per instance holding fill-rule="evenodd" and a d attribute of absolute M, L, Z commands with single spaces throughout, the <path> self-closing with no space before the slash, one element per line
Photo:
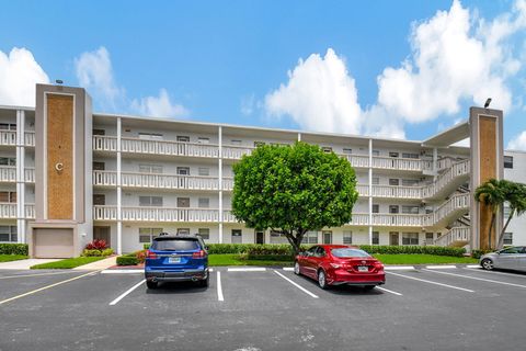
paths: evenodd
<path fill-rule="evenodd" d="M 146 285 L 159 282 L 197 282 L 208 286 L 208 252 L 199 236 L 161 234 L 153 239 L 145 262 Z"/>

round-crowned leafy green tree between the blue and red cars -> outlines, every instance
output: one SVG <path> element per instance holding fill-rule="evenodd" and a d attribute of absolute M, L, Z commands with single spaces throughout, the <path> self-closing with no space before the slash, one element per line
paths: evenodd
<path fill-rule="evenodd" d="M 358 197 L 345 159 L 319 146 L 260 146 L 233 166 L 232 213 L 249 228 L 285 235 L 294 251 L 308 230 L 351 220 Z"/>

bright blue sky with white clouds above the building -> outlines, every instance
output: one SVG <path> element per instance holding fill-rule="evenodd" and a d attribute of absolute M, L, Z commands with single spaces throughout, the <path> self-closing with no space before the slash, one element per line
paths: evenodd
<path fill-rule="evenodd" d="M 0 104 L 62 79 L 95 111 L 423 139 L 491 95 L 505 143 L 526 148 L 522 1 L 0 5 Z"/>

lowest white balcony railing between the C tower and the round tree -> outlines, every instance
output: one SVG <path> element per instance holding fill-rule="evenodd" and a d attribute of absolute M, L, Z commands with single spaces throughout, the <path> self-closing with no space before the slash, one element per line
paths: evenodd
<path fill-rule="evenodd" d="M 117 220 L 117 206 L 93 206 L 94 220 Z M 217 223 L 219 211 L 213 208 L 122 207 L 124 222 Z"/>

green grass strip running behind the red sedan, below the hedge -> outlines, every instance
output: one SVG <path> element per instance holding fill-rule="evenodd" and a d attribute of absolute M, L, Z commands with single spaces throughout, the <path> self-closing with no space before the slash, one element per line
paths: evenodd
<path fill-rule="evenodd" d="M 384 264 L 446 264 L 446 263 L 478 263 L 479 260 L 466 257 L 449 257 L 436 254 L 374 254 Z M 293 265 L 291 261 L 260 261 L 243 260 L 237 253 L 209 254 L 209 265 Z"/>

